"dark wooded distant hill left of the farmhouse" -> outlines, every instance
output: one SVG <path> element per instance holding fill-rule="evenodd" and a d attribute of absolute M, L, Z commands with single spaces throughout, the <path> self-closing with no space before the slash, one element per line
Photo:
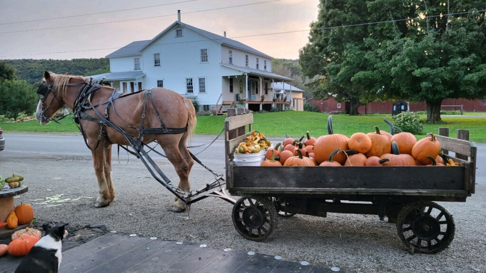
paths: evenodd
<path fill-rule="evenodd" d="M 109 72 L 109 59 L 72 59 L 72 60 L 2 60 L 17 69 L 17 76 L 29 84 L 41 81 L 44 70 L 54 73 L 66 73 L 69 75 L 88 76 Z M 94 72 L 94 73 L 93 73 Z"/>

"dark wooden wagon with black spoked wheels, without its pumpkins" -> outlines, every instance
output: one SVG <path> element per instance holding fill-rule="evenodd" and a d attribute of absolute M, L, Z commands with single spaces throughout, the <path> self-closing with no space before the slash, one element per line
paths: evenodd
<path fill-rule="evenodd" d="M 235 166 L 233 151 L 252 123 L 251 114 L 225 121 L 226 189 L 241 196 L 232 219 L 246 239 L 267 238 L 278 217 L 372 214 L 396 222 L 408 249 L 433 254 L 450 245 L 455 229 L 452 215 L 435 201 L 465 202 L 474 193 L 476 147 L 467 140 L 436 135 L 458 167 Z"/>

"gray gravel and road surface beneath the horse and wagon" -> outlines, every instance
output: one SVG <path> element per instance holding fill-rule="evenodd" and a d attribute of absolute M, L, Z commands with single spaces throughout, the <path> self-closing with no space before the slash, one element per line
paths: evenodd
<path fill-rule="evenodd" d="M 486 145 L 480 146 L 479 153 L 486 152 Z M 482 168 L 477 171 L 477 193 L 466 203 L 440 203 L 453 215 L 456 224 L 451 247 L 435 255 L 410 255 L 397 235 L 395 224 L 370 215 L 329 213 L 327 218 L 304 215 L 280 218 L 278 229 L 268 239 L 249 241 L 234 229 L 232 206 L 225 201 L 208 198 L 193 204 L 189 212 L 171 212 L 173 195 L 150 176 L 143 164 L 133 156 L 127 163 L 126 155 L 120 161 L 121 164 L 117 158 L 113 159 L 117 197 L 111 205 L 100 209 L 94 208 L 97 186 L 89 155 L 1 152 L 0 171 L 3 175 L 12 172 L 24 175 L 29 191 L 17 198 L 16 203 L 32 204 L 35 217 L 42 221 L 105 225 L 108 230 L 129 234 L 251 250 L 361 272 L 486 272 L 486 174 Z M 177 181 L 167 160 L 156 161 L 169 179 Z M 478 162 L 477 166 L 484 167 L 486 162 Z M 224 172 L 223 164 L 208 167 Z M 192 188 L 203 187 L 211 177 L 201 166 L 194 165 Z M 81 199 L 57 206 L 32 201 L 55 194 L 62 194 L 61 199 Z"/>

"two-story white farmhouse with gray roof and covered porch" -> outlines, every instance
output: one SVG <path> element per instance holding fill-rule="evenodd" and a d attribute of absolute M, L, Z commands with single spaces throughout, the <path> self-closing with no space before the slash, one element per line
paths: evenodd
<path fill-rule="evenodd" d="M 110 72 L 104 84 L 131 93 L 154 86 L 171 89 L 200 105 L 199 111 L 226 112 L 239 105 L 250 110 L 291 108 L 274 93 L 273 83 L 293 79 L 272 73 L 272 57 L 224 36 L 178 20 L 152 40 L 132 42 L 106 56 Z M 297 92 L 297 96 L 299 93 Z M 242 105 L 243 104 L 243 105 Z"/>

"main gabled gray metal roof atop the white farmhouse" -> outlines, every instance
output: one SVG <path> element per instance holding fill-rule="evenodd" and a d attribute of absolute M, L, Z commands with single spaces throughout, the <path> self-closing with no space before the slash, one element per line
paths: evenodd
<path fill-rule="evenodd" d="M 230 46 L 230 47 L 233 47 L 233 48 L 238 48 L 238 49 L 241 49 L 241 50 L 244 50 L 244 51 L 252 52 L 252 53 L 258 54 L 258 55 L 263 56 L 263 57 L 272 58 L 271 56 L 269 56 L 269 55 L 267 55 L 267 54 L 265 54 L 265 53 L 263 53 L 261 51 L 258 51 L 258 50 L 254 49 L 254 48 L 251 48 L 251 47 L 249 47 L 249 46 L 247 46 L 247 45 L 245 45 L 243 43 L 240 43 L 238 41 L 231 40 L 229 38 L 220 36 L 218 34 L 210 33 L 208 31 L 205 31 L 205 30 L 202 30 L 202 29 L 198 29 L 196 27 L 193 27 L 193 26 L 188 25 L 188 24 L 184 24 L 184 23 L 179 22 L 179 21 L 175 21 L 168 28 L 166 28 L 163 32 L 159 33 L 157 36 L 155 36 L 148 43 L 146 43 L 145 45 L 143 45 L 143 47 L 140 48 L 140 51 L 143 51 L 144 49 L 146 49 L 147 47 L 149 47 L 152 43 L 154 43 L 156 40 L 158 40 L 164 34 L 166 34 L 167 32 L 169 32 L 176 25 L 180 25 L 181 27 L 188 28 L 188 29 L 190 29 L 190 30 L 192 30 L 192 31 L 194 31 L 196 33 L 199 33 L 199 34 L 201 34 L 203 36 L 206 36 L 206 37 L 208 37 L 208 39 L 214 40 L 214 41 L 216 41 L 216 42 L 218 42 L 220 44 L 224 44 L 224 45 L 227 45 L 227 46 Z"/>

